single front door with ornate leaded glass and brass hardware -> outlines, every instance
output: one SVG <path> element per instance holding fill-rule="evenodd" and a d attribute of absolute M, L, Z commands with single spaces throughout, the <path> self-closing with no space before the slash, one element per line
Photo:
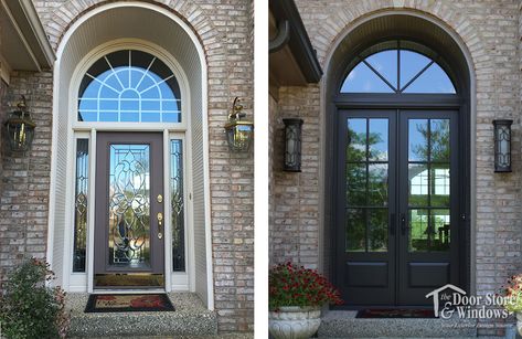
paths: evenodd
<path fill-rule="evenodd" d="M 164 285 L 162 142 L 97 134 L 95 287 Z"/>

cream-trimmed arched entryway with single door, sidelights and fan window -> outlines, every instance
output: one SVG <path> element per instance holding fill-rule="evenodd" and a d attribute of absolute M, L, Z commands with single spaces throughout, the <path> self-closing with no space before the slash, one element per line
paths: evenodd
<path fill-rule="evenodd" d="M 63 36 L 54 78 L 56 284 L 195 292 L 212 309 L 206 62 L 194 31 L 149 2 L 93 7 Z"/>

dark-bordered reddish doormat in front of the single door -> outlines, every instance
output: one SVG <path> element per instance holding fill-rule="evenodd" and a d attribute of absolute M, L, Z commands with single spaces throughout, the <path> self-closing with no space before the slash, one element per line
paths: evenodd
<path fill-rule="evenodd" d="M 167 294 L 92 294 L 85 312 L 173 311 Z"/>

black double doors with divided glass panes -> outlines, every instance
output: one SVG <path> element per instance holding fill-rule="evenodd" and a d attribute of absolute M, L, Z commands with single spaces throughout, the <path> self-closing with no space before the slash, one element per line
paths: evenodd
<path fill-rule="evenodd" d="M 335 284 L 348 307 L 427 306 L 459 277 L 455 110 L 339 110 Z"/>

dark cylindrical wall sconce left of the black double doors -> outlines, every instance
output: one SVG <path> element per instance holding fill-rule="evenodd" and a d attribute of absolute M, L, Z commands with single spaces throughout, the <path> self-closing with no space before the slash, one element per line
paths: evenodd
<path fill-rule="evenodd" d="M 283 119 L 285 123 L 285 171 L 301 171 L 302 119 Z"/>

